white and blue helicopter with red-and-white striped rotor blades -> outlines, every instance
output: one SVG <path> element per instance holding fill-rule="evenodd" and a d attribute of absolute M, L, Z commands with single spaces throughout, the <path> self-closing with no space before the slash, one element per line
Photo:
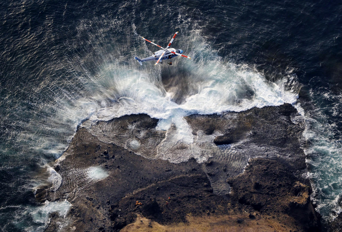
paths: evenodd
<path fill-rule="evenodd" d="M 142 37 L 144 40 L 146 40 L 147 42 L 150 42 L 158 47 L 161 48 L 161 50 L 157 51 L 157 52 L 154 52 L 152 56 L 149 56 L 149 57 L 146 57 L 144 59 L 139 59 L 139 57 L 134 57 L 134 59 L 136 59 L 140 65 L 143 65 L 142 62 L 145 62 L 145 61 L 149 61 L 149 60 L 157 60 L 157 62 L 154 64 L 154 65 L 157 65 L 159 63 L 160 60 L 165 60 L 165 59 L 171 59 L 175 56 L 183 56 L 183 57 L 186 57 L 186 58 L 189 58 L 191 59 L 190 57 L 188 56 L 185 56 L 185 55 L 182 55 L 183 53 L 183 50 L 180 50 L 180 49 L 174 49 L 174 48 L 169 48 L 171 43 L 173 42 L 174 38 L 176 37 L 176 35 L 178 34 L 178 31 L 176 33 L 174 33 L 174 36 L 172 37 L 169 45 L 166 47 L 166 48 L 163 48 L 161 46 L 159 46 L 158 44 L 155 44 L 147 39 L 145 39 L 144 37 Z M 160 62 L 162 63 L 162 62 Z"/>

